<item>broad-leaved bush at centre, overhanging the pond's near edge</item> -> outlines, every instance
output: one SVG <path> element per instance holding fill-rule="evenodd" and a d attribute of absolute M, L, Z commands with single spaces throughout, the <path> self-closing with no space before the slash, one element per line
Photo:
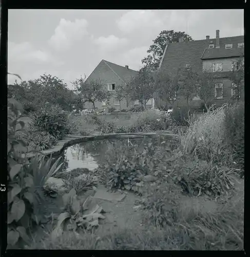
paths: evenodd
<path fill-rule="evenodd" d="M 162 154 L 162 159 L 164 158 Z M 140 191 L 140 178 L 159 171 L 159 158 L 156 147 L 144 141 L 135 148 L 134 145 L 110 146 L 107 151 L 106 164 L 99 166 L 101 179 L 112 189 Z"/>

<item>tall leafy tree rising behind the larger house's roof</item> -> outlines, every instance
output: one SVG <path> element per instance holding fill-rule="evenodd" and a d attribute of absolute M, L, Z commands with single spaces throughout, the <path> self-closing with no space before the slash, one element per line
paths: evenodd
<path fill-rule="evenodd" d="M 193 40 L 191 36 L 185 32 L 174 30 L 161 31 L 157 38 L 153 40 L 153 44 L 147 50 L 147 53 L 149 54 L 147 57 L 142 59 L 142 63 L 145 64 L 149 70 L 157 70 L 159 68 L 167 40 L 169 40 L 169 43 L 177 43 L 179 42 L 179 38 L 182 36 L 185 42 Z"/>

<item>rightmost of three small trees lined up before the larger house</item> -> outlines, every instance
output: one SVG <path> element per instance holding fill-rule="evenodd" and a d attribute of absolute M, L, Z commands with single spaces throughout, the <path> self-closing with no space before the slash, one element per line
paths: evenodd
<path fill-rule="evenodd" d="M 197 96 L 204 101 L 206 110 L 208 111 L 215 99 L 215 79 L 213 73 L 203 70 L 199 74 L 197 83 Z"/>

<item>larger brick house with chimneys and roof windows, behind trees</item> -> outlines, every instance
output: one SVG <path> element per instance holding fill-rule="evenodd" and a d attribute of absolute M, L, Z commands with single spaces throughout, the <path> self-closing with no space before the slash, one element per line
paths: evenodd
<path fill-rule="evenodd" d="M 205 40 L 195 40 L 179 43 L 167 42 L 164 54 L 160 63 L 159 70 L 166 72 L 170 76 L 176 76 L 178 70 L 183 70 L 190 65 L 195 72 L 207 70 L 213 72 L 215 83 L 216 106 L 221 106 L 225 102 L 233 102 L 234 85 L 228 75 L 233 69 L 233 62 L 238 65 L 239 58 L 244 59 L 244 36 L 231 36 L 220 38 L 219 30 L 216 30 L 216 38 L 210 39 L 206 36 Z M 177 93 L 178 95 L 178 93 Z M 244 92 L 241 93 L 241 99 L 244 99 Z M 175 104 L 181 105 L 183 99 L 179 99 Z M 190 104 L 201 105 L 202 100 L 195 97 Z M 156 93 L 156 104 L 162 105 Z"/>

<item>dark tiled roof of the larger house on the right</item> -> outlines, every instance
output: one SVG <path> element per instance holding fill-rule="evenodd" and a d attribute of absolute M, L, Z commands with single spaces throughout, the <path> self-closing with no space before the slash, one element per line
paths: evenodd
<path fill-rule="evenodd" d="M 244 42 L 244 36 L 232 36 L 230 38 L 220 38 L 220 49 L 225 49 L 225 44 L 237 44 Z M 170 43 L 162 59 L 160 70 L 175 76 L 178 69 L 184 69 L 186 64 L 190 64 L 194 71 L 202 70 L 202 56 L 209 44 L 216 44 L 216 39 L 195 40 L 181 43 Z M 237 45 L 238 47 L 238 45 Z M 212 48 L 211 50 L 219 49 Z M 240 48 L 239 48 L 240 49 Z M 210 49 L 209 49 L 210 50 Z M 225 49 L 230 50 L 230 49 Z"/>

